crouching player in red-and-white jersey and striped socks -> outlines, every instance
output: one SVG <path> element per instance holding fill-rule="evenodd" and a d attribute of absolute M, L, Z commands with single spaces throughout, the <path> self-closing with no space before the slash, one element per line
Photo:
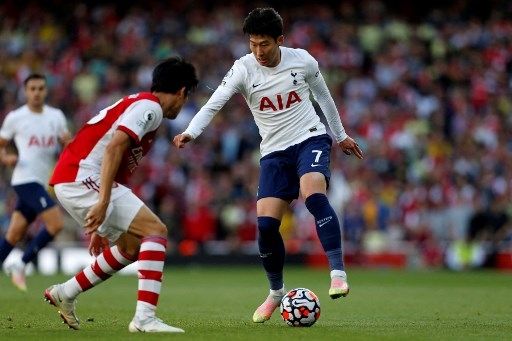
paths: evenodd
<path fill-rule="evenodd" d="M 50 184 L 62 206 L 91 235 L 89 252 L 96 256 L 90 266 L 44 293 L 70 328 L 79 329 L 77 296 L 138 260 L 137 305 L 129 331 L 183 332 L 155 314 L 167 227 L 123 184 L 151 148 L 163 118 L 178 116 L 197 83 L 192 64 L 165 60 L 153 70 L 151 92 L 124 97 L 101 110 L 61 154 Z"/>

